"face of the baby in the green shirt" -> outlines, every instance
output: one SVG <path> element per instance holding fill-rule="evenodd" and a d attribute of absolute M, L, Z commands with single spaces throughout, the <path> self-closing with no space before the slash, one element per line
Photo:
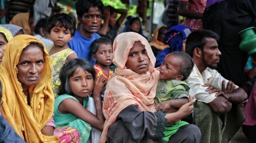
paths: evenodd
<path fill-rule="evenodd" d="M 182 80 L 183 76 L 180 75 L 180 65 L 182 59 L 173 54 L 168 54 L 159 68 L 159 78 L 162 80 Z"/>

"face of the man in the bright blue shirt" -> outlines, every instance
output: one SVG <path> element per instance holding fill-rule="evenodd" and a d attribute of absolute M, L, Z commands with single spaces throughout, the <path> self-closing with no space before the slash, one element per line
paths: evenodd
<path fill-rule="evenodd" d="M 97 8 L 91 6 L 88 13 L 84 13 L 82 17 L 77 17 L 81 24 L 81 30 L 89 34 L 94 34 L 101 27 L 102 12 Z"/>

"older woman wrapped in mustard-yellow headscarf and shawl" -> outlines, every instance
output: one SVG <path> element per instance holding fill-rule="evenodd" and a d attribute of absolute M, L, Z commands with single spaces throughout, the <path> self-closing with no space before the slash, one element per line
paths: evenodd
<path fill-rule="evenodd" d="M 55 125 L 52 120 L 54 94 L 50 86 L 51 68 L 47 49 L 34 36 L 15 36 L 6 46 L 0 65 L 1 112 L 26 142 L 59 141 L 58 137 L 54 137 Z M 76 133 L 74 130 L 65 131 Z M 79 141 L 79 134 L 74 135 L 72 141 L 76 137 Z"/>

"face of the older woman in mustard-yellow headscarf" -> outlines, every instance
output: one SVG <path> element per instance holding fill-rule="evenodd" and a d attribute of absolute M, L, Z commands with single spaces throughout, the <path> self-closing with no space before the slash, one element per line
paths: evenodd
<path fill-rule="evenodd" d="M 41 47 L 30 45 L 29 49 L 23 50 L 17 69 L 17 78 L 22 83 L 23 90 L 37 85 L 44 69 L 44 53 Z"/>

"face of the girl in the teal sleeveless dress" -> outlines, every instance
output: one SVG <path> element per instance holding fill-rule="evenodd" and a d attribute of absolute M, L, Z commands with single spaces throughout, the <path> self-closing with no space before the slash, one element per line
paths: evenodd
<path fill-rule="evenodd" d="M 77 99 L 87 97 L 93 91 L 93 75 L 84 71 L 83 68 L 77 67 L 74 74 L 69 78 L 69 84 L 74 97 Z"/>

